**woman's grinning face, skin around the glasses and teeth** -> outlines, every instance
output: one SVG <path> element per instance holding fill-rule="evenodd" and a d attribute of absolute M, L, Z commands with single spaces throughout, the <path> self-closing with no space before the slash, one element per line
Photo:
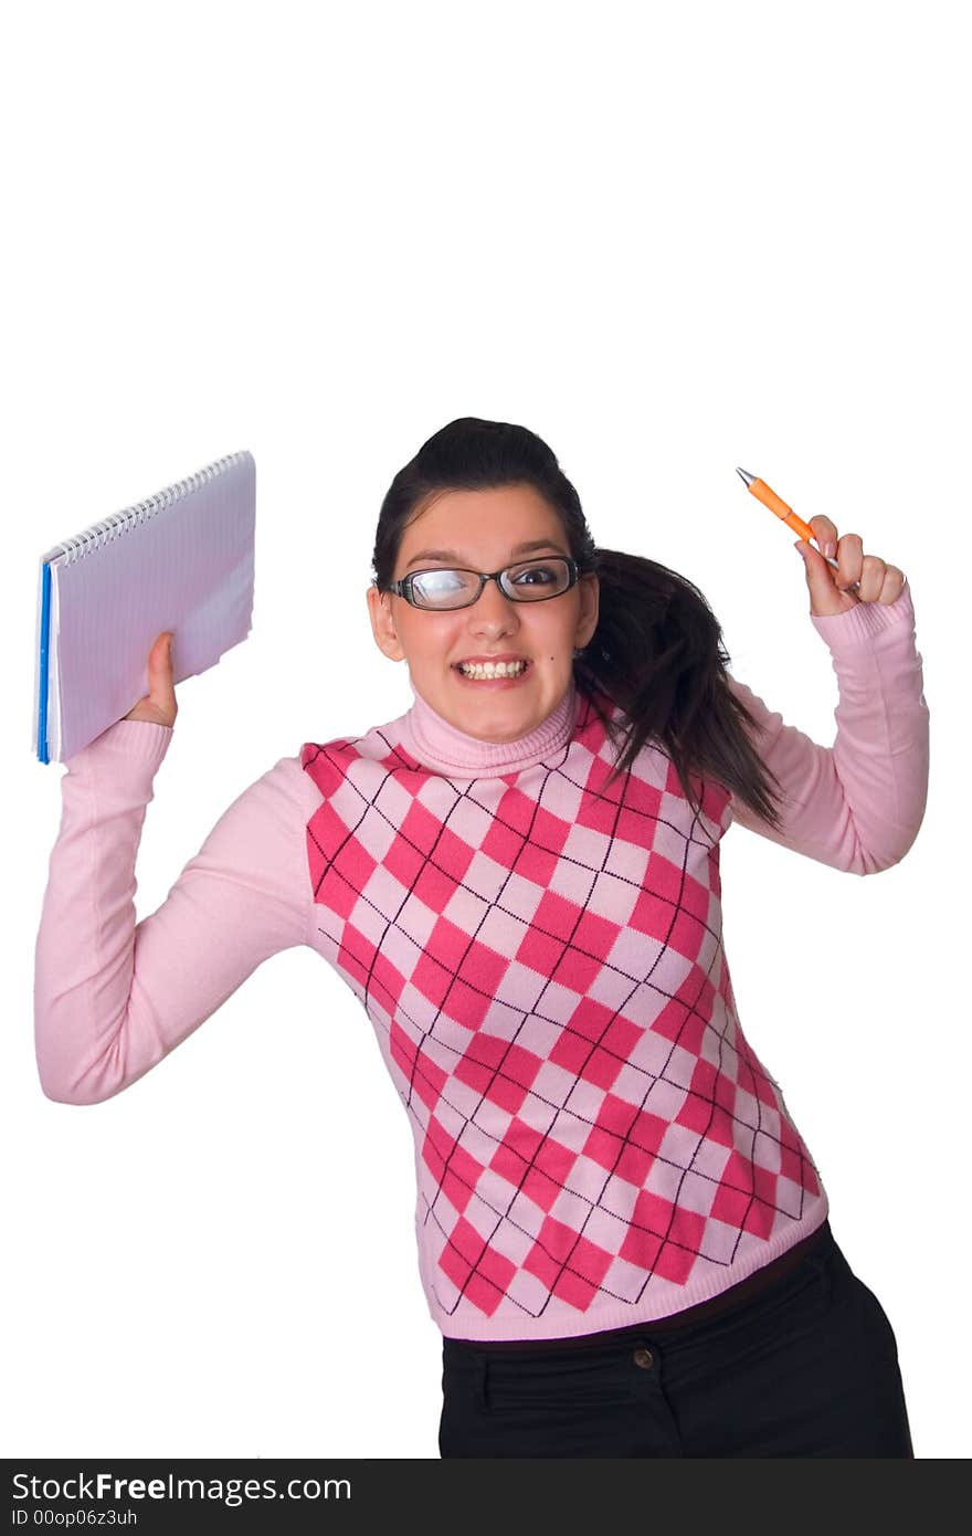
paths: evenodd
<path fill-rule="evenodd" d="M 536 548 L 521 551 L 534 541 Z M 436 567 L 494 571 L 544 554 L 570 554 L 570 547 L 557 513 L 533 485 L 455 490 L 408 524 L 393 579 Z M 570 687 L 574 647 L 597 628 L 594 574 L 544 602 L 514 602 L 494 581 L 467 608 L 447 611 L 415 608 L 375 585 L 367 598 L 382 654 L 408 662 L 415 691 L 450 725 L 488 742 L 516 740 L 556 710 Z M 456 662 L 507 653 L 530 662 L 513 684 L 467 682 L 456 670 Z"/>

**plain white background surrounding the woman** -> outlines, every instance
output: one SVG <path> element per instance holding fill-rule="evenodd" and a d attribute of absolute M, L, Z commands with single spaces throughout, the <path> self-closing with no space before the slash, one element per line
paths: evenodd
<path fill-rule="evenodd" d="M 147 915 L 278 757 L 408 707 L 367 619 L 375 525 L 461 415 L 548 441 L 597 544 L 694 581 L 734 674 L 825 745 L 803 565 L 736 465 L 908 573 L 918 842 L 861 880 L 731 829 L 725 940 L 894 1324 L 915 1452 L 969 1453 L 963 22 L 927 0 L 8 11 L 5 1455 L 438 1456 L 412 1135 L 326 963 L 273 957 L 107 1103 L 45 1098 L 63 770 L 29 731 L 41 551 L 249 449 L 253 630 L 180 687 Z"/>

